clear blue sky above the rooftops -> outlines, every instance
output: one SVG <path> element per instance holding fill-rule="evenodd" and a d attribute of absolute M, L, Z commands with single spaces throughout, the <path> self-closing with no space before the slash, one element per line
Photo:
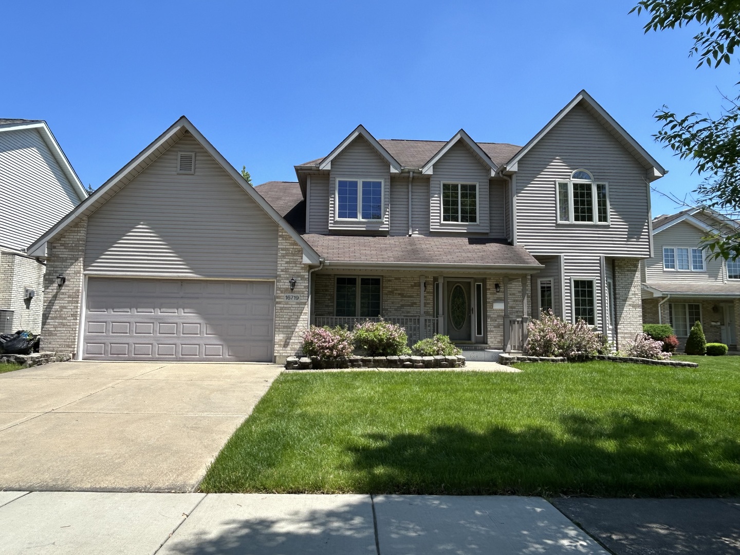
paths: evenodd
<path fill-rule="evenodd" d="M 645 35 L 635 3 L 6 3 L 0 117 L 47 120 L 94 188 L 184 114 L 259 184 L 295 180 L 360 123 L 525 144 L 585 88 L 683 195 L 699 180 L 653 142 L 653 112 L 716 115 L 738 71 L 695 70 L 697 28 Z M 653 215 L 677 209 L 653 193 Z"/>

